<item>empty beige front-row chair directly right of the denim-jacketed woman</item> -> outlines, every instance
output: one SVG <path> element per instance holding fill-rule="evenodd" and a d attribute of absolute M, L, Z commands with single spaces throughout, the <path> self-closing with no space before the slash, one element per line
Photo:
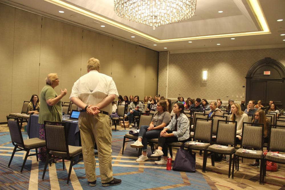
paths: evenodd
<path fill-rule="evenodd" d="M 194 128 L 193 141 L 202 142 L 204 143 L 204 145 L 190 145 L 189 143 L 187 143 L 185 147 L 188 148 L 190 152 L 192 152 L 192 150 L 204 151 L 202 171 L 205 172 L 205 164 L 207 163 L 207 161 L 205 160 L 207 160 L 208 155 L 207 149 L 212 143 L 213 119 L 204 119 L 196 117 L 195 125 L 196 126 Z"/>

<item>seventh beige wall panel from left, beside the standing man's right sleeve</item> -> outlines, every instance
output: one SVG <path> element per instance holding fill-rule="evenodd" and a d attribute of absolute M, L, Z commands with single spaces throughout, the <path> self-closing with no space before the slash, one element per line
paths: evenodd
<path fill-rule="evenodd" d="M 117 87 L 118 93 L 121 95 L 123 86 L 125 85 L 124 77 L 124 62 L 125 62 L 125 44 L 121 40 L 113 40 L 112 52 L 112 75 L 110 75 Z"/>

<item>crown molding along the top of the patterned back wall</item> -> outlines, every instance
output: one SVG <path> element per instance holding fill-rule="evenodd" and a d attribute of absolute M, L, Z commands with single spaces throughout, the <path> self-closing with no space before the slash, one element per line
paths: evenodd
<path fill-rule="evenodd" d="M 218 51 L 232 51 L 232 50 L 252 50 L 252 49 L 270 49 L 270 48 L 285 48 L 285 44 L 268 44 L 261 46 L 236 46 L 224 48 L 201 48 L 201 49 L 188 49 L 188 50 L 170 50 L 170 54 L 183 54 L 194 52 L 218 52 Z"/>

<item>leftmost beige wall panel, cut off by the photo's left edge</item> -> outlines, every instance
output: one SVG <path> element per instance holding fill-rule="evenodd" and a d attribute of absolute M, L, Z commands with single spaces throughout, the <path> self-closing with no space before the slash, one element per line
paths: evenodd
<path fill-rule="evenodd" d="M 14 25 L 15 8 L 0 3 L 0 122 L 11 113 Z"/>

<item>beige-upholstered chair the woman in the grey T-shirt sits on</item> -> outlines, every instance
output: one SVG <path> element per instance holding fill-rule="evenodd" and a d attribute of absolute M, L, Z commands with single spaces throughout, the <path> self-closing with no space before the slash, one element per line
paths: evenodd
<path fill-rule="evenodd" d="M 149 125 L 150 122 L 152 121 L 152 117 L 153 117 L 153 114 L 151 113 L 141 113 L 140 115 L 140 119 L 139 119 L 139 129 L 141 128 L 141 126 L 143 125 Z M 135 129 L 136 130 L 136 129 Z M 129 140 L 126 140 L 129 139 Z M 138 139 L 138 136 L 135 136 L 135 135 L 132 135 L 132 134 L 125 134 L 124 136 L 124 140 L 123 140 L 123 149 L 122 149 L 122 154 L 124 154 L 124 148 L 125 148 L 125 143 L 126 142 L 131 142 L 131 141 L 135 141 Z M 141 149 L 142 150 L 142 149 Z M 139 155 L 140 156 L 140 152 L 141 150 L 139 150 Z"/>

